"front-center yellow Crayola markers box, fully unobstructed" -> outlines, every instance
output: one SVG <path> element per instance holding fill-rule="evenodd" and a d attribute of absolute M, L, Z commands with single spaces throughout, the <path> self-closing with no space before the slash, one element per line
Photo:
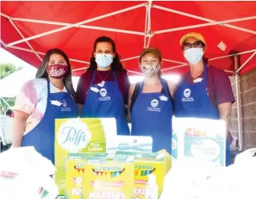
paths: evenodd
<path fill-rule="evenodd" d="M 134 156 L 87 158 L 83 177 L 83 198 L 132 199 L 133 173 Z"/>

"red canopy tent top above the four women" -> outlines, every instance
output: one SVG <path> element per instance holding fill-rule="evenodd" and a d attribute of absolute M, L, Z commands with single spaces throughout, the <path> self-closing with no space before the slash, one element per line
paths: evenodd
<path fill-rule="evenodd" d="M 95 39 L 116 41 L 129 75 L 140 73 L 143 47 L 159 47 L 165 74 L 188 70 L 179 39 L 201 32 L 206 57 L 230 75 L 256 67 L 256 2 L 1 2 L 1 47 L 39 67 L 43 54 L 58 47 L 75 75 L 87 67 Z M 224 43 L 226 47 L 218 47 Z M 234 55 L 238 67 L 234 68 Z"/>

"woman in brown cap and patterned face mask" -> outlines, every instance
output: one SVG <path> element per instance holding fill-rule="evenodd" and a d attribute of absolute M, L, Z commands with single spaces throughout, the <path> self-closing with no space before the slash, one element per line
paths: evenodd
<path fill-rule="evenodd" d="M 132 136 L 152 136 L 153 152 L 165 149 L 171 153 L 173 85 L 161 78 L 161 61 L 157 48 L 148 47 L 141 52 L 144 80 L 129 89 L 128 117 L 132 117 Z"/>

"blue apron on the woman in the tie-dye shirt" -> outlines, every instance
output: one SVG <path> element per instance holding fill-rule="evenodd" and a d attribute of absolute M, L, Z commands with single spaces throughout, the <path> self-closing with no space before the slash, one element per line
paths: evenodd
<path fill-rule="evenodd" d="M 50 82 L 47 80 L 47 92 L 46 112 L 39 124 L 23 136 L 22 147 L 34 146 L 37 152 L 55 164 L 55 119 L 76 118 L 79 112 L 69 91 L 51 93 Z M 58 102 L 61 105 L 58 106 Z"/>

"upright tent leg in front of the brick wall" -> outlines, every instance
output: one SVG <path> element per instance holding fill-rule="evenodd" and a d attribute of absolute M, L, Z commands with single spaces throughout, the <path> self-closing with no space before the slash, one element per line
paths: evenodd
<path fill-rule="evenodd" d="M 234 56 L 235 70 L 238 70 L 238 56 Z M 238 112 L 238 150 L 242 151 L 243 149 L 243 131 L 242 131 L 242 105 L 241 105 L 241 87 L 240 87 L 240 77 L 238 72 L 235 76 L 235 85 L 236 85 L 236 100 L 237 100 L 237 112 Z"/>

